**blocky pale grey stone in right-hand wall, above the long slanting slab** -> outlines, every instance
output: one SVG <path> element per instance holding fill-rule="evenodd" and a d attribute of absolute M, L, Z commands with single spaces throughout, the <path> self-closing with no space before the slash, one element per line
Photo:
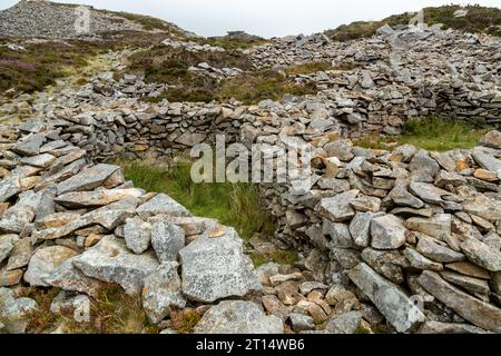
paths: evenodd
<path fill-rule="evenodd" d="M 405 227 L 394 215 L 374 218 L 371 222 L 371 246 L 376 249 L 396 249 L 405 244 Z"/>

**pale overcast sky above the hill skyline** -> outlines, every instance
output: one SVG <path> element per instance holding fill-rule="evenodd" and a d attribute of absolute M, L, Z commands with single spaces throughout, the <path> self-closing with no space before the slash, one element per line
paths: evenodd
<path fill-rule="evenodd" d="M 0 9 L 17 0 L 0 0 Z M 245 30 L 263 37 L 321 32 L 357 20 L 380 20 L 451 0 L 63 0 L 98 9 L 150 14 L 202 36 Z M 501 7 L 501 0 L 453 0 Z"/>

